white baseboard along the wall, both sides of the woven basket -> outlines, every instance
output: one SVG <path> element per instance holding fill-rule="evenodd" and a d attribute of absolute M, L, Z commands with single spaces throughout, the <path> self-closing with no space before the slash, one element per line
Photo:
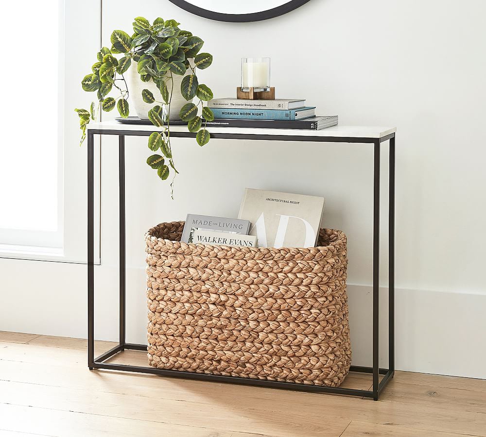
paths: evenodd
<path fill-rule="evenodd" d="M 86 266 L 3 260 L 0 330 L 86 338 Z M 29 263 L 25 277 L 24 263 Z M 24 278 L 22 280 L 21 278 Z M 117 340 L 118 268 L 95 269 L 95 333 Z M 142 286 L 141 286 L 142 285 Z M 127 272 L 127 341 L 146 341 L 145 271 Z M 372 287 L 348 284 L 353 364 L 371 366 Z M 7 291 L 8 290 L 8 291 Z M 381 367 L 387 367 L 387 288 L 380 298 Z M 398 288 L 396 369 L 486 379 L 486 295 Z"/>

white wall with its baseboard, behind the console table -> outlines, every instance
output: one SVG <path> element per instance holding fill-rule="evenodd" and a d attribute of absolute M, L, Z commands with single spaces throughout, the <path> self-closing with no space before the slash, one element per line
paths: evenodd
<path fill-rule="evenodd" d="M 311 0 L 285 16 L 241 24 L 196 17 L 163 0 L 104 0 L 103 11 L 105 45 L 111 30 L 129 31 L 139 15 L 175 18 L 200 35 L 214 61 L 199 82 L 216 96 L 234 94 L 242 56 L 270 56 L 278 97 L 306 97 L 341 124 L 397 126 L 397 368 L 486 378 L 484 1 Z M 79 54 L 87 66 L 96 50 Z M 84 99 L 73 104 L 87 105 Z M 188 212 L 235 216 L 251 186 L 326 198 L 323 224 L 348 235 L 353 362 L 370 363 L 369 145 L 213 140 L 200 148 L 178 139 L 175 201 L 145 164 L 146 140 L 127 138 L 126 146 L 130 341 L 144 341 L 144 232 Z M 77 138 L 66 147 L 77 147 Z M 96 330 L 104 339 L 117 333 L 117 151 L 116 138 L 103 139 Z M 86 147 L 81 154 L 84 166 Z M 383 287 L 385 252 L 383 245 Z M 0 272 L 0 329 L 86 336 L 86 266 L 0 260 Z"/>

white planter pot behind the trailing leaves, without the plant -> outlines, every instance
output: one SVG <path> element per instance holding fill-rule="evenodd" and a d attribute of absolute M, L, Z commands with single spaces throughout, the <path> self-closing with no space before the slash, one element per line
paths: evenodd
<path fill-rule="evenodd" d="M 191 70 L 188 71 L 191 72 Z M 170 73 L 169 73 L 170 75 Z M 142 90 L 148 89 L 155 97 L 157 101 L 163 101 L 162 96 L 160 95 L 160 91 L 157 88 L 157 85 L 152 81 L 149 82 L 142 82 L 140 80 L 140 75 L 137 71 L 137 64 L 132 63 L 132 66 L 127 71 L 127 84 L 128 84 L 128 91 L 130 92 L 130 98 L 132 100 L 132 104 L 134 106 L 135 112 L 137 116 L 142 120 L 148 120 L 148 112 L 154 106 L 154 104 L 158 103 L 146 103 L 142 99 Z M 184 76 L 180 76 L 177 74 L 173 75 L 174 79 L 174 91 L 172 93 L 172 100 L 171 100 L 171 107 L 170 107 L 170 115 L 169 119 L 173 120 L 180 120 L 179 112 L 181 108 L 186 104 L 189 103 L 181 94 L 181 83 Z M 169 93 L 172 87 L 172 79 L 167 81 L 167 87 L 169 88 Z M 130 108 L 130 112 L 132 112 L 132 108 Z"/>

